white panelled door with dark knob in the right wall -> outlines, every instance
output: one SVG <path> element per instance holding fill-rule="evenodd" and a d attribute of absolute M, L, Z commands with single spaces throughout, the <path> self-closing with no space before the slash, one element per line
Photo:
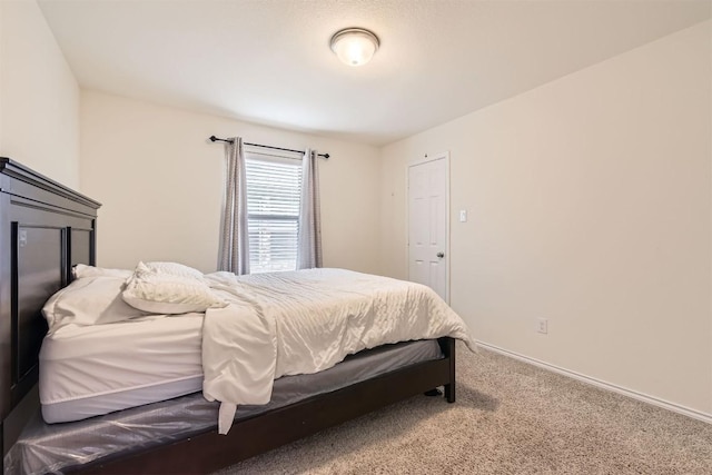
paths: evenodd
<path fill-rule="evenodd" d="M 445 301 L 447 289 L 447 154 L 408 167 L 408 274 Z"/>

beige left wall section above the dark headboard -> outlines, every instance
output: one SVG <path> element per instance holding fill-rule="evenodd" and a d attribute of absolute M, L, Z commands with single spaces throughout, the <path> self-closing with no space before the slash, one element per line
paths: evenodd
<path fill-rule="evenodd" d="M 79 86 L 33 0 L 0 1 L 0 156 L 79 187 Z"/>

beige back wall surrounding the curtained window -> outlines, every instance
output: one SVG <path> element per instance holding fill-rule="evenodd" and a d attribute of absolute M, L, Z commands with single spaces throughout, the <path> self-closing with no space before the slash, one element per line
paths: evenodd
<path fill-rule="evenodd" d="M 82 92 L 81 180 L 101 201 L 99 264 L 217 264 L 224 147 L 207 138 L 328 151 L 320 161 L 324 264 L 378 273 L 378 150 L 146 102 Z"/>

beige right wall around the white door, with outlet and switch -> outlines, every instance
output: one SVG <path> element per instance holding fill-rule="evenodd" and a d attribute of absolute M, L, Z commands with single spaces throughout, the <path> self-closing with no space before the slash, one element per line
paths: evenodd
<path fill-rule="evenodd" d="M 449 150 L 476 338 L 712 415 L 710 28 L 385 147 L 384 271 L 407 275 L 406 164 Z"/>

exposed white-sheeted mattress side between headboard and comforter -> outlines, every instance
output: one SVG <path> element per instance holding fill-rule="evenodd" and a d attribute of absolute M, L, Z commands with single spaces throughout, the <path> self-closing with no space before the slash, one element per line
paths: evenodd
<path fill-rule="evenodd" d="M 68 325 L 46 337 L 42 417 L 79 420 L 200 390 L 202 318 L 186 314 Z"/>

